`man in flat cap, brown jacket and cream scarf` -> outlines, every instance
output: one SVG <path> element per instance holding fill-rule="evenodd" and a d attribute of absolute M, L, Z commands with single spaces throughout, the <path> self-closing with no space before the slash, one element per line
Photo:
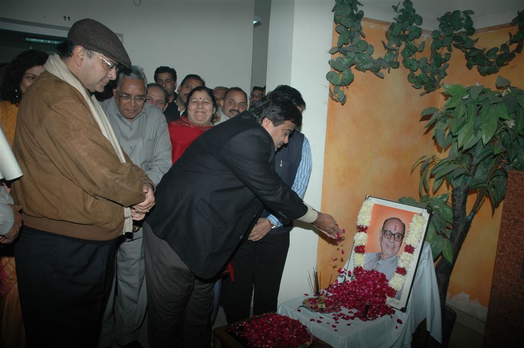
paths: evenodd
<path fill-rule="evenodd" d="M 122 151 L 90 94 L 131 62 L 113 31 L 73 24 L 27 88 L 13 183 L 24 226 L 15 245 L 20 304 L 31 347 L 95 347 L 118 238 L 155 202 L 155 185 Z"/>

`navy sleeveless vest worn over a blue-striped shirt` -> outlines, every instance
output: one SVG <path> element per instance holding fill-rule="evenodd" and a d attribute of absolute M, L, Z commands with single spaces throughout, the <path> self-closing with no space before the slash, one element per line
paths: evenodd
<path fill-rule="evenodd" d="M 288 143 L 281 147 L 275 154 L 275 172 L 280 176 L 282 181 L 290 188 L 293 186 L 294 179 L 297 176 L 298 166 L 302 160 L 302 146 L 304 144 L 304 134 L 294 131 L 289 137 Z M 260 217 L 265 218 L 271 215 L 271 212 L 264 209 Z M 293 228 L 293 221 L 274 228 L 269 233 L 289 232 Z"/>

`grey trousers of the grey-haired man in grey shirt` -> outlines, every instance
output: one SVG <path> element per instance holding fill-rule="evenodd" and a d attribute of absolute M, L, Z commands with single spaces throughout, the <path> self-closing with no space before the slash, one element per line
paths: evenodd
<path fill-rule="evenodd" d="M 116 272 L 102 318 L 99 347 L 138 341 L 147 308 L 142 229 L 124 238 L 116 251 Z M 115 291 L 116 290 L 116 291 Z"/>

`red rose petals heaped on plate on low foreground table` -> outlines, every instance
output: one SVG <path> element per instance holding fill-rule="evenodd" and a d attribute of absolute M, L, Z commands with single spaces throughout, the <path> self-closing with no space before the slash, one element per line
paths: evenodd
<path fill-rule="evenodd" d="M 296 348 L 311 341 L 305 325 L 276 313 L 248 320 L 232 331 L 257 348 Z"/>

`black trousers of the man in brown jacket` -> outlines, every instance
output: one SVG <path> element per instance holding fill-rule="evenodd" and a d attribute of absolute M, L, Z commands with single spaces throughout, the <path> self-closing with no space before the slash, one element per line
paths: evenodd
<path fill-rule="evenodd" d="M 29 347 L 96 347 L 115 243 L 22 229 L 15 262 Z"/>

